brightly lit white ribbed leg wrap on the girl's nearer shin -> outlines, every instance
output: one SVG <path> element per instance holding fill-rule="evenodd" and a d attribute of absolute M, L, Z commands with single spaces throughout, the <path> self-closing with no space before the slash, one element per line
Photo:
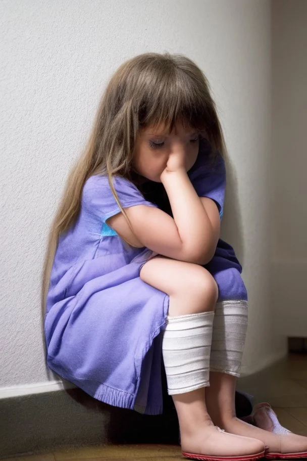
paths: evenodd
<path fill-rule="evenodd" d="M 168 394 L 209 386 L 214 311 L 168 316 L 162 352 Z"/>

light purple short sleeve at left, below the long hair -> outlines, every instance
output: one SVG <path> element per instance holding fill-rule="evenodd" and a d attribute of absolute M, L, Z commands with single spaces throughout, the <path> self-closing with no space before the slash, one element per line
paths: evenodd
<path fill-rule="evenodd" d="M 123 208 L 136 205 L 158 208 L 158 205 L 145 200 L 137 187 L 128 179 L 114 176 L 113 186 Z M 82 205 L 103 222 L 121 212 L 106 175 L 94 175 L 87 179 L 83 188 Z"/>

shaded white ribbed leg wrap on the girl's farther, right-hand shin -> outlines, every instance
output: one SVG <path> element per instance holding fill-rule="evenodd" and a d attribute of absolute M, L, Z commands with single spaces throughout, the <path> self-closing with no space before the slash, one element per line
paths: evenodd
<path fill-rule="evenodd" d="M 247 330 L 247 301 L 223 301 L 215 308 L 210 371 L 240 376 Z"/>

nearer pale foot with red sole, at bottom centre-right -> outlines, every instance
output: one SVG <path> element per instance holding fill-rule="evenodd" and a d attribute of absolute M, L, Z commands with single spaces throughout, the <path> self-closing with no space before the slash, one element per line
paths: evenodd
<path fill-rule="evenodd" d="M 204 426 L 192 434 L 181 434 L 182 454 L 208 461 L 248 461 L 264 456 L 265 445 L 257 439 L 227 434 L 216 426 Z"/>

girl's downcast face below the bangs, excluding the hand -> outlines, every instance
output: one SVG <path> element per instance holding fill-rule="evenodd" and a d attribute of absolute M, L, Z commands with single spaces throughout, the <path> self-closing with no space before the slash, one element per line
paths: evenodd
<path fill-rule="evenodd" d="M 173 131 L 164 134 L 164 125 L 149 126 L 138 133 L 134 146 L 134 169 L 151 181 L 161 182 L 160 175 L 171 153 L 183 152 L 188 171 L 194 165 L 199 149 L 199 132 L 177 123 Z"/>

